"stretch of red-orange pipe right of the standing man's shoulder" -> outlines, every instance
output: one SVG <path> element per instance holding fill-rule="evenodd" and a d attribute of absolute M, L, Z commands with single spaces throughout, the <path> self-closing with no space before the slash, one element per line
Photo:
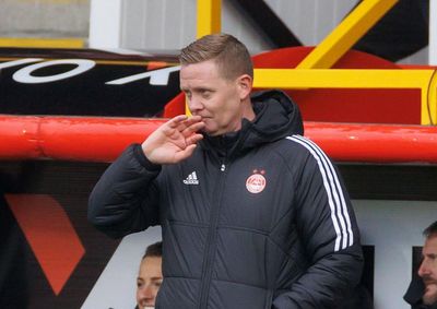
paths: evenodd
<path fill-rule="evenodd" d="M 437 127 L 306 122 L 305 135 L 339 162 L 437 163 Z"/>

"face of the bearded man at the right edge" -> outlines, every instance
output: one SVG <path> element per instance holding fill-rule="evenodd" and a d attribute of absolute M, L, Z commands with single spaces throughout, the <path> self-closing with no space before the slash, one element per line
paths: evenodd
<path fill-rule="evenodd" d="M 423 261 L 418 275 L 425 284 L 423 302 L 434 305 L 437 302 L 437 235 L 430 235 L 422 250 Z"/>

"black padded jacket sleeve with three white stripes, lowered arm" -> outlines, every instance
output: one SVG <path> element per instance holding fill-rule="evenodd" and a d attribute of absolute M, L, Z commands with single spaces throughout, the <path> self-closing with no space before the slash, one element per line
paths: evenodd
<path fill-rule="evenodd" d="M 342 180 L 326 154 L 302 138 L 304 164 L 295 170 L 296 224 L 308 269 L 275 309 L 338 308 L 358 284 L 363 253 L 355 215 Z"/>

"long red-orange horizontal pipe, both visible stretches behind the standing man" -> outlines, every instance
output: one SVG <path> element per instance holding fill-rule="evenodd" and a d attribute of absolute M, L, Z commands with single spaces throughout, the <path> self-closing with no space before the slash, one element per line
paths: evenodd
<path fill-rule="evenodd" d="M 0 116 L 0 159 L 110 162 L 165 121 Z M 305 135 L 338 162 L 437 163 L 437 127 L 305 122 Z"/>

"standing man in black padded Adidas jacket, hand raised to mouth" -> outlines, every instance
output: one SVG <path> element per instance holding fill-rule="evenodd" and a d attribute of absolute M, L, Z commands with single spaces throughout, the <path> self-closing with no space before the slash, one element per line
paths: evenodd
<path fill-rule="evenodd" d="M 118 237 L 162 225 L 157 308 L 336 308 L 361 277 L 350 200 L 282 92 L 250 96 L 247 48 L 209 35 L 180 54 L 178 116 L 110 165 L 88 218 Z"/>

